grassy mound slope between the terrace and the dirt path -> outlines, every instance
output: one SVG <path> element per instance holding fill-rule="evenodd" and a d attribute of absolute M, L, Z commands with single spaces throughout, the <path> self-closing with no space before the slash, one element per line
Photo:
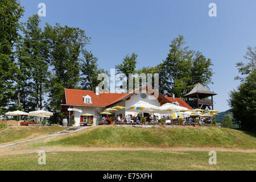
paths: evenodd
<path fill-rule="evenodd" d="M 256 148 L 254 135 L 218 127 L 100 126 L 33 146 Z"/>

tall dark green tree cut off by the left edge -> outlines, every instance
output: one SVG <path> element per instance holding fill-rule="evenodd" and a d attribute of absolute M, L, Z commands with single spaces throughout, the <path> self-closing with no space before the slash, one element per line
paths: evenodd
<path fill-rule="evenodd" d="M 24 7 L 17 0 L 0 1 L 0 114 L 6 111 L 6 106 L 14 94 L 13 47 L 18 39 L 19 19 Z"/>

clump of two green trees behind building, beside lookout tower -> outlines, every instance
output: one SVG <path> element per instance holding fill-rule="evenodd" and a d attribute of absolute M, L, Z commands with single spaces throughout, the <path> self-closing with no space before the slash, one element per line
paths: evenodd
<path fill-rule="evenodd" d="M 198 82 L 204 86 L 212 83 L 211 60 L 201 52 L 189 50 L 185 44 L 181 35 L 172 40 L 168 56 L 157 67 L 162 93 L 183 97 Z"/>

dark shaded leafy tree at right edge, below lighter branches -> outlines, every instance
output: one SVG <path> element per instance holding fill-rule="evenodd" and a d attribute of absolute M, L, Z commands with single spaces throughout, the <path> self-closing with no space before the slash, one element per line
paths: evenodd
<path fill-rule="evenodd" d="M 233 117 L 242 129 L 256 131 L 256 69 L 245 78 L 238 90 L 230 93 L 229 105 Z"/>

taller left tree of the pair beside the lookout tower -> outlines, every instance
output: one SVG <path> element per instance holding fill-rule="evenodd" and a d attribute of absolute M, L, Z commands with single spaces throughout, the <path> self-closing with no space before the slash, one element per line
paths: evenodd
<path fill-rule="evenodd" d="M 192 81 L 189 71 L 192 67 L 193 51 L 185 44 L 181 35 L 172 40 L 168 56 L 158 65 L 159 86 L 162 93 L 174 93 L 177 97 L 181 97 L 187 92 L 187 82 Z"/>

